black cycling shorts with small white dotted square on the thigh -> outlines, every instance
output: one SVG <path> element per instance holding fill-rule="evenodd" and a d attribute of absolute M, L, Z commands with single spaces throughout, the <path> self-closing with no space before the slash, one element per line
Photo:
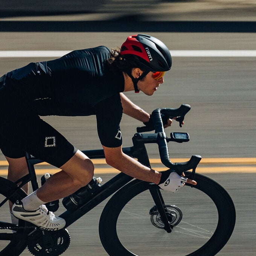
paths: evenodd
<path fill-rule="evenodd" d="M 0 149 L 3 154 L 20 158 L 26 151 L 58 168 L 70 160 L 77 149 L 24 102 L 2 89 L 0 86 Z"/>

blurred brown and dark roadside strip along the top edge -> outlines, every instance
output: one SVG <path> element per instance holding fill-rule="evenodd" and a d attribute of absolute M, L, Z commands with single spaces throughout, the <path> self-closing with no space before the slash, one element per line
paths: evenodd
<path fill-rule="evenodd" d="M 255 21 L 254 0 L 2 0 L 0 17 L 16 20 Z M 58 17 L 56 17 L 58 15 Z"/>

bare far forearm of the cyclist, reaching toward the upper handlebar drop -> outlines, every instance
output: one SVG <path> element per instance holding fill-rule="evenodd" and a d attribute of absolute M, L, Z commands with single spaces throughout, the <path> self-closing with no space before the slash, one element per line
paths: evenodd
<path fill-rule="evenodd" d="M 123 113 L 141 122 L 148 122 L 149 114 L 142 108 L 130 101 L 123 93 L 120 93 Z"/>

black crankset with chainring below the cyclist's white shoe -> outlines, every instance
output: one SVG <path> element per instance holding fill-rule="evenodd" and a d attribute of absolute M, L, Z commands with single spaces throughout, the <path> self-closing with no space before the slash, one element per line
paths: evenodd
<path fill-rule="evenodd" d="M 67 229 L 45 231 L 41 229 L 30 233 L 27 248 L 35 256 L 58 256 L 67 250 L 70 235 Z"/>

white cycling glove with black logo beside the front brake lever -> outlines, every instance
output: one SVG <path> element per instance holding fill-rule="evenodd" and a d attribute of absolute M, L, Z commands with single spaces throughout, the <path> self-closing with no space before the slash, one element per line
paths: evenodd
<path fill-rule="evenodd" d="M 163 190 L 175 193 L 185 186 L 185 182 L 187 182 L 187 178 L 178 175 L 177 172 L 171 172 L 167 180 L 158 186 Z"/>

